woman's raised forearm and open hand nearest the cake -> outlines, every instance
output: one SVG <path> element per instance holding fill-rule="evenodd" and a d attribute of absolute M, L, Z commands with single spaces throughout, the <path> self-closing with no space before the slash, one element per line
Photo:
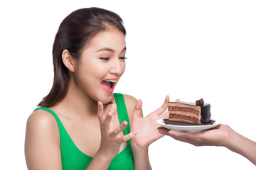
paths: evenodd
<path fill-rule="evenodd" d="M 135 169 L 151 169 L 148 149 L 152 142 L 164 136 L 157 131 L 159 125 L 157 125 L 156 120 L 166 116 L 167 113 L 164 115 L 162 113 L 166 111 L 169 96 L 166 96 L 164 104 L 160 108 L 144 118 L 142 114 L 142 101 L 130 99 L 132 101 L 127 102 L 126 99 L 126 103 L 133 103 L 131 130 L 137 132 L 137 135 L 132 138 L 131 142 Z"/>

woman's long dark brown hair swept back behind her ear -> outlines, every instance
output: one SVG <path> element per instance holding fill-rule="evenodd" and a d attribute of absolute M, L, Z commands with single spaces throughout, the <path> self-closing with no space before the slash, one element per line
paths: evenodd
<path fill-rule="evenodd" d="M 69 73 L 63 64 L 62 52 L 68 50 L 73 58 L 79 60 L 81 52 L 90 40 L 104 30 L 117 28 L 124 36 L 126 30 L 122 18 L 117 13 L 102 8 L 81 8 L 70 13 L 60 23 L 53 42 L 54 79 L 50 93 L 38 104 L 42 107 L 54 106 L 62 101 L 68 92 Z"/>

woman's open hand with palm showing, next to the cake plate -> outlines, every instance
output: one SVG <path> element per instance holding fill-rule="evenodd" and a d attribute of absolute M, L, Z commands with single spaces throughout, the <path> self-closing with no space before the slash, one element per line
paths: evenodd
<path fill-rule="evenodd" d="M 168 102 L 169 96 L 166 96 L 164 104 L 156 111 L 146 115 L 145 118 L 142 117 L 142 101 L 139 100 L 137 102 L 131 123 L 131 131 L 137 132 L 137 136 L 133 137 L 131 141 L 133 149 L 143 152 L 148 149 L 152 142 L 164 136 L 158 132 L 157 128 L 159 125 L 156 123 L 156 120 L 168 117 L 169 113 L 164 113 Z"/>

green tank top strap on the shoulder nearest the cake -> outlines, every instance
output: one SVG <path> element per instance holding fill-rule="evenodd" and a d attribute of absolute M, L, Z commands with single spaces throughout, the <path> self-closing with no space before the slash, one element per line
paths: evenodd
<path fill-rule="evenodd" d="M 122 123 L 124 120 L 127 121 L 127 128 L 125 128 L 124 135 L 129 134 L 130 132 L 130 125 L 129 125 L 129 117 L 127 113 L 127 108 L 124 102 L 124 96 L 122 94 L 114 93 L 114 98 L 117 103 L 117 114 L 119 117 L 119 122 Z"/>

